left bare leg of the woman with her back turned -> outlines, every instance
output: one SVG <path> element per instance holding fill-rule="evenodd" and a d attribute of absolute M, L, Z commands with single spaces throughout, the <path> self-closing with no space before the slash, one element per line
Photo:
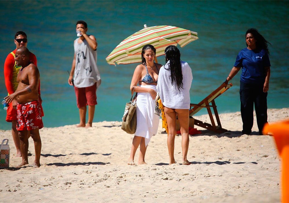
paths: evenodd
<path fill-rule="evenodd" d="M 175 133 L 176 133 L 176 121 L 177 121 L 177 113 L 174 109 L 164 107 L 164 114 L 167 118 L 169 135 L 167 139 L 169 156 L 170 156 L 170 164 L 175 164 L 174 150 L 175 150 Z"/>

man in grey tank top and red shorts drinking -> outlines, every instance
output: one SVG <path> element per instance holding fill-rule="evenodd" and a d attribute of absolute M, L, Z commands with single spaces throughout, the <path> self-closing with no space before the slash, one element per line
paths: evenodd
<path fill-rule="evenodd" d="M 79 108 L 80 123 L 76 127 L 92 127 L 96 102 L 96 88 L 101 83 L 96 65 L 97 42 L 93 35 L 87 35 L 85 21 L 77 21 L 78 38 L 74 40 L 74 59 L 68 83 L 74 86 L 76 103 Z M 86 123 L 86 106 L 88 105 L 88 121 Z"/>

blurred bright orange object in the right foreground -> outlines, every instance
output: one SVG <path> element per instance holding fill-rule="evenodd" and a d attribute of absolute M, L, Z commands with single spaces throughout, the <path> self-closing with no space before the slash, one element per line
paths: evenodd
<path fill-rule="evenodd" d="M 263 134 L 274 136 L 279 155 L 282 159 L 281 202 L 289 202 L 289 119 L 265 124 Z"/>

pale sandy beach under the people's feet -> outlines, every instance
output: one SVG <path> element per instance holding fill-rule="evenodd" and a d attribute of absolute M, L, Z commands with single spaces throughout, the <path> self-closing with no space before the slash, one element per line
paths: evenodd
<path fill-rule="evenodd" d="M 288 117 L 289 108 L 268 109 L 269 123 Z M 208 115 L 195 118 L 209 122 Z M 189 166 L 180 164 L 181 136 L 175 139 L 177 164 L 169 166 L 161 120 L 147 165 L 135 166 L 127 165 L 133 135 L 121 122 L 42 128 L 40 168 L 15 168 L 21 157 L 15 157 L 11 131 L 0 130 L 0 140 L 10 145 L 10 168 L 0 169 L 0 202 L 279 202 L 281 162 L 273 137 L 258 135 L 256 118 L 251 135 L 242 135 L 240 112 L 220 114 L 220 120 L 229 130 L 224 134 L 195 126 L 202 134 L 190 136 Z M 33 163 L 31 138 L 29 150 Z"/>

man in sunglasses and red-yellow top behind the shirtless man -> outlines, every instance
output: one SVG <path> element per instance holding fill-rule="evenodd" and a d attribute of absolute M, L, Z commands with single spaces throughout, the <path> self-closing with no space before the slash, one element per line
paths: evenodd
<path fill-rule="evenodd" d="M 22 46 L 24 47 L 27 46 L 27 35 L 25 34 L 25 32 L 22 32 L 22 31 L 16 32 L 14 36 L 14 43 L 16 45 L 16 49 L 8 54 L 5 60 L 5 64 L 4 64 L 4 78 L 5 78 L 5 85 L 6 85 L 8 95 L 11 95 L 12 93 L 14 93 L 18 87 L 18 82 L 16 81 L 16 79 L 17 79 L 17 75 L 21 66 L 16 65 L 16 61 L 14 60 L 14 57 L 15 57 L 15 52 L 17 48 L 22 47 Z M 30 62 L 34 63 L 35 66 L 37 66 L 36 56 L 30 52 L 29 57 L 30 57 Z M 38 95 L 39 95 L 39 100 L 42 101 L 40 97 L 40 82 L 38 86 Z M 17 106 L 17 101 L 16 99 L 14 99 L 8 106 L 6 121 L 12 122 L 12 137 L 13 137 L 15 147 L 17 150 L 16 157 L 21 157 L 20 140 L 18 136 L 18 131 L 16 129 L 16 123 L 17 123 L 16 122 L 17 120 L 16 106 Z M 29 133 L 29 136 L 30 136 L 30 133 Z"/>

